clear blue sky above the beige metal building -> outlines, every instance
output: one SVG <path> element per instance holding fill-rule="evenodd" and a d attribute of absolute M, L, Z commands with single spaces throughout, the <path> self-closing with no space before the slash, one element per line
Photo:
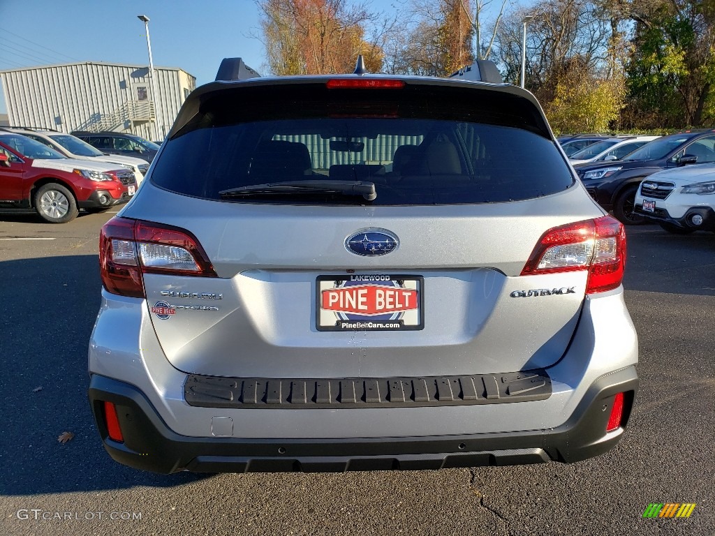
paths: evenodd
<path fill-rule="evenodd" d="M 365 1 L 389 14 L 405 3 Z M 196 76 L 197 85 L 214 79 L 224 57 L 242 57 L 264 70 L 253 0 L 0 0 L 0 70 L 74 61 L 147 64 L 139 14 L 151 19 L 154 65 L 180 67 Z"/>

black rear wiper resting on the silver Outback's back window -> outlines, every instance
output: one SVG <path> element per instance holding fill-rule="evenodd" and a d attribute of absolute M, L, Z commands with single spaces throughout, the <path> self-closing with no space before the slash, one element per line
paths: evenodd
<path fill-rule="evenodd" d="M 240 188 L 232 188 L 219 192 L 221 197 L 248 197 L 263 194 L 345 194 L 361 195 L 368 201 L 377 199 L 375 183 L 366 181 L 283 181 L 270 182 L 266 184 L 250 184 Z"/>

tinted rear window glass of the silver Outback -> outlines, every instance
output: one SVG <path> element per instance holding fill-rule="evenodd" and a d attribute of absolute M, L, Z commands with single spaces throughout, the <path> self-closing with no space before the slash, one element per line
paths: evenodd
<path fill-rule="evenodd" d="M 435 87 L 267 86 L 209 98 L 168 139 L 152 181 L 220 192 L 282 181 L 373 182 L 373 205 L 508 202 L 573 184 L 533 106 L 508 94 Z M 340 194 L 258 194 L 231 202 L 366 203 Z"/>

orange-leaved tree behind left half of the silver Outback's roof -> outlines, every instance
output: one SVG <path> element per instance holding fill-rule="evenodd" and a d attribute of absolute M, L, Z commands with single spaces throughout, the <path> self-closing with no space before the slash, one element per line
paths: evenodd
<path fill-rule="evenodd" d="M 273 74 L 351 72 L 358 54 L 380 72 L 383 50 L 366 27 L 377 21 L 350 0 L 256 0 L 268 68 Z"/>

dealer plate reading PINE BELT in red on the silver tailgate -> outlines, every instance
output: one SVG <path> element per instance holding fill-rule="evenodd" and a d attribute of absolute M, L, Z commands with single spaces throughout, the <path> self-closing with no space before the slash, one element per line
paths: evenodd
<path fill-rule="evenodd" d="M 423 329 L 423 277 L 350 274 L 315 282 L 315 327 L 319 331 Z"/>

